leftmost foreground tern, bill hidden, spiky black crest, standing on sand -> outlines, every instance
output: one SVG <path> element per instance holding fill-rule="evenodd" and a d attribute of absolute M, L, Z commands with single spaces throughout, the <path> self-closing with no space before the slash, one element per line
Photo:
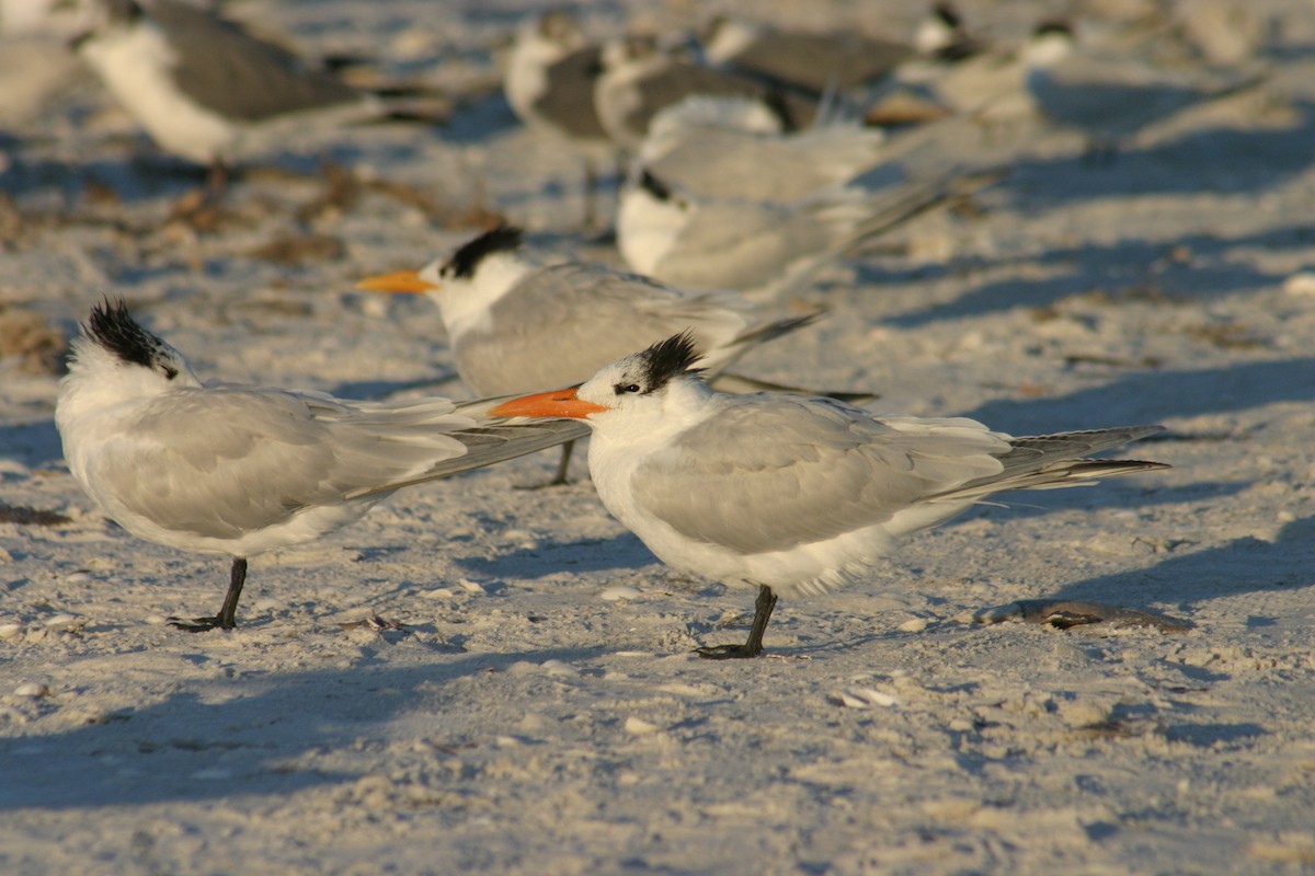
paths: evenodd
<path fill-rule="evenodd" d="M 402 486 L 579 437 L 488 416 L 492 402 L 352 402 L 323 393 L 201 383 L 120 301 L 92 309 L 60 381 L 55 426 L 68 469 L 146 541 L 233 557 L 213 617 L 231 629 L 247 557 L 358 520 Z"/>

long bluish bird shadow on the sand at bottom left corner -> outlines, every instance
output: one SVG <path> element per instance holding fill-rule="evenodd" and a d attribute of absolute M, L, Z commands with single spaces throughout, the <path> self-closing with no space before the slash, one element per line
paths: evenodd
<path fill-rule="evenodd" d="M 438 654 L 418 666 L 366 662 L 346 670 L 224 679 L 218 701 L 188 690 L 59 733 L 0 741 L 0 775 L 7 776 L 0 810 L 284 797 L 343 785 L 370 775 L 370 768 L 321 768 L 314 758 L 350 751 L 364 738 L 385 738 L 383 728 L 402 713 L 437 713 L 435 686 L 519 662 L 590 661 L 606 650 Z M 444 739 L 435 725 L 434 743 L 477 747 L 481 741 Z"/>

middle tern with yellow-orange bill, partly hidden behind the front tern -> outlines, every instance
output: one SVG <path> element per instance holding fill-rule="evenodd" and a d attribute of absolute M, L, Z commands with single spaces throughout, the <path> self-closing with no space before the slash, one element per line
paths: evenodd
<path fill-rule="evenodd" d="M 462 381 L 479 395 L 579 383 L 600 368 L 689 330 L 715 378 L 760 343 L 818 314 L 765 319 L 725 292 L 684 292 L 584 261 L 552 261 L 498 226 L 419 271 L 370 277 L 359 289 L 423 293 L 438 305 Z M 565 478 L 569 445 L 554 483 Z"/>

